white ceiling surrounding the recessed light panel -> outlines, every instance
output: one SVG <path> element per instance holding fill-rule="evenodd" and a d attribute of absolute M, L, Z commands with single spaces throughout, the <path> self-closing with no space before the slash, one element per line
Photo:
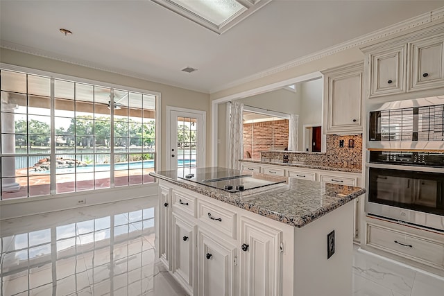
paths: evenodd
<path fill-rule="evenodd" d="M 5 48 L 211 93 L 443 6 L 273 0 L 218 35 L 150 0 L 0 0 L 0 40 Z"/>

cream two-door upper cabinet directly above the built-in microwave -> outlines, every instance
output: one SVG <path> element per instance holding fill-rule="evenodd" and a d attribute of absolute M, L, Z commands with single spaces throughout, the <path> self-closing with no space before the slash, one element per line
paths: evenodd
<path fill-rule="evenodd" d="M 366 55 L 368 98 L 444 88 L 444 24 L 361 48 Z M 430 94 L 432 92 L 432 94 Z M 422 94 L 418 95 L 422 96 Z"/>

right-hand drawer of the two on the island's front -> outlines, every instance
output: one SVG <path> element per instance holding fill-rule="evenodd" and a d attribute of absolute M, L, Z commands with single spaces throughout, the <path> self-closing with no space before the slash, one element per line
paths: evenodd
<path fill-rule="evenodd" d="M 236 213 L 205 200 L 198 200 L 198 219 L 223 234 L 236 238 Z"/>

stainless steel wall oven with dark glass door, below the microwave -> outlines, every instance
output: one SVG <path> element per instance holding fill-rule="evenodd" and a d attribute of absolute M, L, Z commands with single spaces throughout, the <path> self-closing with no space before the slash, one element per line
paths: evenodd
<path fill-rule="evenodd" d="M 369 151 L 366 212 L 444 232 L 444 153 Z"/>

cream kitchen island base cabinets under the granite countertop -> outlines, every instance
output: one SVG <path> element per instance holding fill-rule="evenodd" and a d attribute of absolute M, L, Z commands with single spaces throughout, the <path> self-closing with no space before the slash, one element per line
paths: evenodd
<path fill-rule="evenodd" d="M 316 182 L 297 181 L 322 187 Z M 290 187 L 282 191 L 282 186 L 289 184 L 251 195 L 228 195 L 231 193 L 212 192 L 214 189 L 208 187 L 208 194 L 211 192 L 219 198 L 224 196 L 227 202 L 196 192 L 203 189 L 191 182 L 186 186 L 193 189 L 185 189 L 167 180 L 159 180 L 159 184 L 160 207 L 167 196 L 175 200 L 169 213 L 171 222 L 167 224 L 161 219 L 163 225 L 156 234 L 159 243 L 173 245 L 169 261 L 162 260 L 162 263 L 190 295 L 350 295 L 352 202 L 296 227 L 289 223 L 293 223 L 293 219 L 300 223 L 298 216 L 284 218 L 283 223 L 278 219 L 284 214 L 268 217 L 246 210 L 246 207 L 255 207 L 262 202 L 270 204 L 269 198 L 289 202 L 287 194 L 291 195 L 291 202 L 298 202 L 296 195 L 300 191 Z M 299 183 L 293 180 L 293 184 Z M 176 202 L 184 197 L 194 201 L 196 211 L 187 209 L 190 203 L 187 206 Z M 244 205 L 234 205 L 237 202 Z M 281 206 L 287 208 L 285 202 Z M 264 211 L 268 210 L 264 208 Z M 164 212 L 168 213 L 163 209 L 161 215 Z M 171 230 L 167 229 L 168 225 Z M 335 252 L 327 256 L 327 238 L 332 234 Z M 322 285 L 318 279 L 322 279 Z"/>

